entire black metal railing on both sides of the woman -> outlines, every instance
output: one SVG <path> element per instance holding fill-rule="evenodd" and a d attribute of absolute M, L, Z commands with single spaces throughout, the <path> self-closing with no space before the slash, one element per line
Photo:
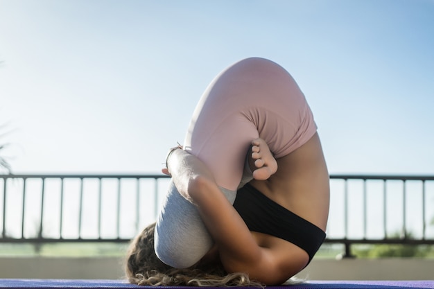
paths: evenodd
<path fill-rule="evenodd" d="M 166 175 L 0 175 L 0 243 L 128 242 Z M 331 175 L 326 243 L 434 244 L 434 176 Z M 431 204 L 431 205 L 429 205 Z"/>

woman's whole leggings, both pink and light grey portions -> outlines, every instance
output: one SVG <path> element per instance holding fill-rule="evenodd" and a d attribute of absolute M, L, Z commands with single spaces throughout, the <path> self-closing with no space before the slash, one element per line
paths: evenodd
<path fill-rule="evenodd" d="M 315 132 L 309 105 L 293 78 L 274 62 L 248 58 L 211 82 L 193 114 L 184 149 L 205 162 L 233 203 L 253 139 L 264 139 L 279 158 L 302 146 Z M 213 243 L 197 208 L 171 183 L 155 227 L 159 259 L 187 268 Z"/>

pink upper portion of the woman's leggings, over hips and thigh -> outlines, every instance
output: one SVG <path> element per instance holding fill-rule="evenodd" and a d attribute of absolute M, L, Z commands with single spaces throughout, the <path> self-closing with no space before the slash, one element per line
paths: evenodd
<path fill-rule="evenodd" d="M 304 94 L 275 62 L 248 58 L 221 72 L 193 113 L 184 149 L 205 162 L 219 186 L 235 191 L 253 139 L 275 158 L 302 146 L 316 132 Z"/>

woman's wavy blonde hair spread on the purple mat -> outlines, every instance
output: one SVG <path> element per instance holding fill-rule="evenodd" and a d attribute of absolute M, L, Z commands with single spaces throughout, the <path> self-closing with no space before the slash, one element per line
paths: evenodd
<path fill-rule="evenodd" d="M 128 249 L 125 273 L 130 283 L 144 286 L 256 286 L 247 273 L 227 274 L 221 263 L 177 269 L 160 261 L 154 249 L 155 223 L 132 240 Z"/>

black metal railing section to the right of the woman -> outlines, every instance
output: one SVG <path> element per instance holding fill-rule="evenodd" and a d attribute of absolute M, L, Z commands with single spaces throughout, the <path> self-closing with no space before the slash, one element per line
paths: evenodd
<path fill-rule="evenodd" d="M 434 244 L 434 176 L 331 175 L 330 181 L 329 227 L 336 224 L 333 210 L 339 209 L 333 200 L 341 197 L 342 231 L 329 230 L 325 243 L 344 244 L 344 256 L 351 256 L 353 244 Z"/>

